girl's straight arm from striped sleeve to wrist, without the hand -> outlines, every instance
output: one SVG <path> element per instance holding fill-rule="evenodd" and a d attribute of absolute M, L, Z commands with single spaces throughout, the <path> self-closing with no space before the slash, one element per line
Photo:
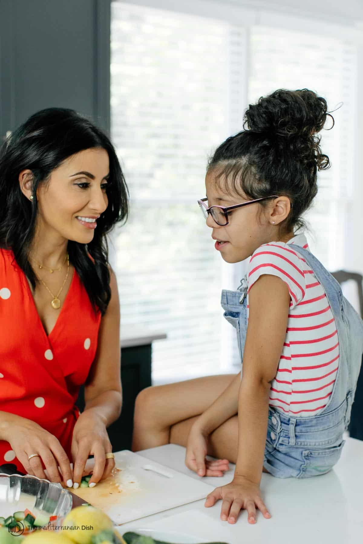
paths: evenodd
<path fill-rule="evenodd" d="M 263 275 L 249 292 L 249 322 L 238 398 L 235 475 L 260 483 L 266 443 L 270 382 L 286 337 L 290 293 L 279 277 Z"/>

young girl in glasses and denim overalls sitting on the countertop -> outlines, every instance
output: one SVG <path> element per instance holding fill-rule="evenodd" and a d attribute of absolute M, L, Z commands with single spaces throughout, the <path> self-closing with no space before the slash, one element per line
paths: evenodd
<path fill-rule="evenodd" d="M 205 503 L 223 499 L 221 519 L 230 523 L 241 509 L 255 523 L 256 506 L 270 517 L 262 471 L 328 472 L 349 423 L 363 322 L 298 232 L 317 170 L 329 167 L 316 136 L 327 115 L 315 92 L 275 91 L 249 107 L 246 129 L 214 153 L 200 207 L 222 258 L 250 257 L 239 290 L 222 292 L 242 372 L 151 387 L 136 403 L 134 450 L 181 444 L 186 465 L 201 476 L 221 476 L 227 460 L 236 463 L 232 482 Z"/>

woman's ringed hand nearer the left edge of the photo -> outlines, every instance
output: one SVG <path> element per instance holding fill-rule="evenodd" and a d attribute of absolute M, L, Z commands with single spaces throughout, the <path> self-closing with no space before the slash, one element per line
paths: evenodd
<path fill-rule="evenodd" d="M 27 473 L 57 483 L 61 483 L 63 478 L 64 485 L 71 487 L 73 475 L 70 460 L 59 440 L 31 419 L 14 415 L 12 417 L 15 419 L 11 423 L 7 441 Z M 39 457 L 32 457 L 29 460 L 29 455 L 33 454 L 38 454 Z M 47 475 L 41 461 L 45 465 Z"/>

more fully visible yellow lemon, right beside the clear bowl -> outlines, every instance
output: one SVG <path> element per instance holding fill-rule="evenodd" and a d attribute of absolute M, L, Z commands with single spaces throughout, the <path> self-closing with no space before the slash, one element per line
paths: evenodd
<path fill-rule="evenodd" d="M 103 529 L 113 529 L 110 518 L 93 506 L 77 506 L 66 515 L 62 533 L 77 544 L 89 544 Z M 72 529 L 73 527 L 73 529 Z"/>

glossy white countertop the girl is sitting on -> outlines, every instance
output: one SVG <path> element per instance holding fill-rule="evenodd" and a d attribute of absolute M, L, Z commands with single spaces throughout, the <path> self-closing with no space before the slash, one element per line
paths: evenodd
<path fill-rule="evenodd" d="M 145 458 L 199 479 L 184 465 L 185 448 L 168 444 L 137 452 Z M 178 506 L 119 527 L 123 534 L 138 528 L 173 530 L 200 537 L 200 542 L 229 544 L 350 544 L 363 535 L 363 441 L 348 438 L 340 461 L 328 474 L 306 479 L 280 479 L 262 474 L 261 490 L 272 518 L 257 512 L 257 523 L 241 511 L 237 523 L 220 521 L 218 501 Z M 232 480 L 235 466 L 222 478 L 203 478 L 214 487 Z"/>

